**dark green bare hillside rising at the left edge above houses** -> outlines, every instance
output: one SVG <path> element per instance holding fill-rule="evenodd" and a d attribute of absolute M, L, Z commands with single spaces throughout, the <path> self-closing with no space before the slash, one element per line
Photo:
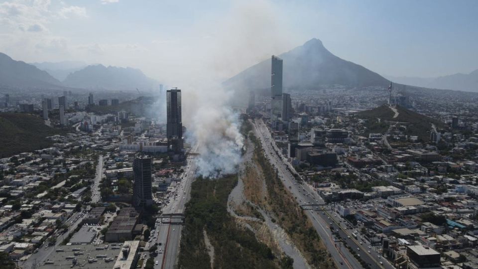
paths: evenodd
<path fill-rule="evenodd" d="M 48 147 L 46 138 L 64 131 L 46 126 L 39 117 L 21 113 L 0 113 L 0 158 Z"/>

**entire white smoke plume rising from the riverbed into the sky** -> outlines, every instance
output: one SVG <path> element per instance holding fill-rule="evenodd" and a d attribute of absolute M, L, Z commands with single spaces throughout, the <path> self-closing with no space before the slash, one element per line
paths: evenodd
<path fill-rule="evenodd" d="M 284 17 L 269 0 L 237 0 L 219 21 L 195 25 L 194 41 L 173 49 L 181 49 L 184 61 L 177 63 L 181 72 L 171 75 L 173 80 L 167 83 L 181 89 L 184 135 L 186 142 L 199 145 L 199 155 L 194 158 L 199 175 L 215 178 L 236 172 L 243 137 L 239 114 L 229 103 L 237 100 L 232 100 L 235 95 L 221 84 L 291 47 L 292 34 L 285 29 Z M 243 89 L 244 94 L 248 91 Z"/>

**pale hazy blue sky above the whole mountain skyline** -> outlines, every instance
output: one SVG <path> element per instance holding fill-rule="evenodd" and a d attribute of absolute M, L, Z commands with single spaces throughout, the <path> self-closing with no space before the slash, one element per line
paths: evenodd
<path fill-rule="evenodd" d="M 380 74 L 478 69 L 478 1 L 0 0 L 0 52 L 26 62 L 227 78 L 311 38 Z"/>

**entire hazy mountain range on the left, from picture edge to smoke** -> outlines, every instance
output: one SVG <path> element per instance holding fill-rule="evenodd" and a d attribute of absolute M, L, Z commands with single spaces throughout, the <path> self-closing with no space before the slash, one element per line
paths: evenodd
<path fill-rule="evenodd" d="M 60 81 L 52 74 L 57 78 L 64 77 L 64 80 Z M 72 61 L 27 64 L 0 53 L 0 86 L 135 91 L 136 88 L 155 89 L 159 82 L 146 77 L 141 70 L 129 67 L 86 66 Z"/>

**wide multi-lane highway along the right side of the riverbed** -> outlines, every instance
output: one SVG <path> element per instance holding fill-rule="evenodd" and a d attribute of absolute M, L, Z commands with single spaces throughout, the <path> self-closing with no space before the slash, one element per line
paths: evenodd
<path fill-rule="evenodd" d="M 262 120 L 256 120 L 256 122 L 254 123 L 254 131 L 262 143 L 262 147 L 267 158 L 269 159 L 270 163 L 277 168 L 279 177 L 281 178 L 283 184 L 286 188 L 289 188 L 292 195 L 296 197 L 296 201 L 299 204 L 325 204 L 325 202 L 320 198 L 320 196 L 316 192 L 314 192 L 309 185 L 302 185 L 298 183 L 292 176 L 292 174 L 290 174 L 290 172 L 286 169 L 286 166 L 289 166 L 290 168 L 290 164 L 286 163 L 282 156 L 278 156 L 275 152 L 275 150 L 278 151 L 278 148 L 273 142 L 270 136 L 270 132 L 265 126 L 265 124 L 262 122 Z M 315 207 L 318 208 L 319 206 Z M 320 237 L 322 238 L 322 242 L 332 255 L 332 258 L 334 259 L 334 261 L 336 261 L 336 265 L 338 268 L 361 268 L 359 262 L 347 250 L 347 248 L 343 247 L 342 244 L 339 242 L 334 242 L 334 237 L 330 229 L 328 228 L 331 223 L 331 219 L 328 215 L 322 214 L 322 211 L 314 210 L 306 210 L 305 213 L 312 221 L 314 228 L 319 233 Z M 336 229 L 337 228 L 338 227 L 336 227 Z M 353 248 L 354 250 L 359 248 L 360 251 L 358 251 L 358 253 L 360 254 L 362 260 L 365 263 L 372 265 L 372 268 L 392 268 L 387 267 L 387 264 L 385 263 L 384 266 L 380 265 L 380 261 L 376 261 L 378 259 L 375 259 L 368 254 L 368 249 L 364 249 L 362 245 L 357 242 L 348 240 L 347 235 L 343 231 L 342 234 L 340 232 L 339 234 L 343 237 L 341 240 L 345 240 L 351 248 Z"/>

